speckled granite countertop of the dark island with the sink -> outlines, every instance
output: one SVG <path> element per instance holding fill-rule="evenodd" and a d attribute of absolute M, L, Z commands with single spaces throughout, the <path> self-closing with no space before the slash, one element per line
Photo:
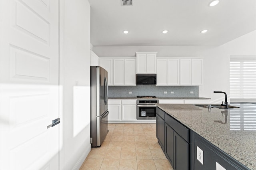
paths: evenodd
<path fill-rule="evenodd" d="M 157 105 L 238 162 L 256 169 L 255 104 L 231 103 L 239 109 L 208 109 L 191 104 Z"/>

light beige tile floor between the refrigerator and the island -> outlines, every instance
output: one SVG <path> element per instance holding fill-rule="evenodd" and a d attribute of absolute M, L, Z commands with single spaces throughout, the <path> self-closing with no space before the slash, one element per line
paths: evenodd
<path fill-rule="evenodd" d="M 155 123 L 108 124 L 108 129 L 80 170 L 173 170 L 156 139 Z"/>

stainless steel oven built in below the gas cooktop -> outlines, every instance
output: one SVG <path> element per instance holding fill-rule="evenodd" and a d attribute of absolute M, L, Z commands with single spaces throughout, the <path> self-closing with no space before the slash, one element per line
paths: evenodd
<path fill-rule="evenodd" d="M 158 100 L 137 100 L 137 119 L 156 119 L 156 103 Z"/>

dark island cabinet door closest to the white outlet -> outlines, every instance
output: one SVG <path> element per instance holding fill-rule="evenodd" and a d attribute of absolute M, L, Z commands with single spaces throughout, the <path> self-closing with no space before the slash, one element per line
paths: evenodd
<path fill-rule="evenodd" d="M 189 144 L 174 131 L 174 170 L 189 169 Z"/>

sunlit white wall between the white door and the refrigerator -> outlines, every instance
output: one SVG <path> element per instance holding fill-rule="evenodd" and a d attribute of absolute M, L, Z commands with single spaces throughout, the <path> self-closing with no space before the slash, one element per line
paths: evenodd
<path fill-rule="evenodd" d="M 64 0 L 64 169 L 79 169 L 90 144 L 90 4 Z"/>

